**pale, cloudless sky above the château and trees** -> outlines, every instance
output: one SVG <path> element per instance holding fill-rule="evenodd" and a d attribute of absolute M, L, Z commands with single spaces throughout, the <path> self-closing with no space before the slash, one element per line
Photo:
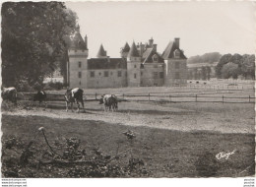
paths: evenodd
<path fill-rule="evenodd" d="M 88 35 L 89 56 L 102 43 L 107 55 L 120 57 L 127 41 L 148 42 L 163 52 L 180 38 L 187 57 L 207 52 L 255 53 L 255 2 L 66 2 L 77 13 L 83 37 Z"/>

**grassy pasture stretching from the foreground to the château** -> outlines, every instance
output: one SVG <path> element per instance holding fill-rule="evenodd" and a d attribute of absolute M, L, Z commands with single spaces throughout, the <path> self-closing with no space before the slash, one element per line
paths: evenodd
<path fill-rule="evenodd" d="M 63 91 L 61 91 L 63 92 Z M 55 93 L 55 92 L 52 92 Z M 58 94 L 60 92 L 57 92 Z M 85 90 L 85 94 L 148 94 L 254 95 L 253 90 L 213 90 L 201 88 L 123 88 Z M 87 96 L 88 97 L 88 96 Z M 129 97 L 128 97 L 129 98 Z M 130 97 L 131 98 L 131 97 Z M 138 99 L 141 97 L 138 96 Z M 48 108 L 24 107 L 2 111 L 2 142 L 15 137 L 25 143 L 32 141 L 39 127 L 52 148 L 61 153 L 66 138 L 77 137 L 88 155 L 95 148 L 110 156 L 132 148 L 113 163 L 127 164 L 129 158 L 144 161 L 146 171 L 130 172 L 119 177 L 242 177 L 255 173 L 255 111 L 254 103 L 171 102 L 160 98 L 153 101 L 119 102 L 117 112 L 104 112 L 98 101 L 87 101 L 85 112 L 66 112 L 64 102 L 49 102 Z M 233 98 L 235 100 L 235 98 Z M 208 101 L 208 100 L 206 100 Z M 23 104 L 28 104 L 23 101 Z M 131 130 L 136 138 L 132 144 L 122 134 Z M 60 146 L 57 146 L 57 145 Z M 4 144 L 3 144 L 4 145 Z M 33 142 L 36 157 L 49 150 L 42 136 Z M 219 153 L 235 151 L 227 159 Z M 3 160 L 19 156 L 21 151 L 5 149 Z M 91 154 L 92 155 L 92 154 Z M 4 162 L 4 168 L 5 166 Z M 30 172 L 28 169 L 31 169 Z M 74 177 L 71 167 L 40 169 L 30 165 L 22 168 L 19 177 Z M 33 174 L 32 174 L 33 173 Z M 75 177 L 85 177 L 77 175 Z M 94 177 L 94 175 L 93 175 Z M 98 175 L 95 175 L 98 177 Z M 114 176 L 113 176 L 114 177 Z"/>

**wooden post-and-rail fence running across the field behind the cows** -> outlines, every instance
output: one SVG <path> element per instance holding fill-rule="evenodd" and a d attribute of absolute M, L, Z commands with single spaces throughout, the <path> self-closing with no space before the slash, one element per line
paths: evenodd
<path fill-rule="evenodd" d="M 182 95 L 183 94 L 183 95 Z M 175 93 L 150 93 L 150 94 L 115 94 L 119 101 L 157 101 L 157 102 L 222 102 L 222 103 L 255 103 L 255 96 L 226 96 L 226 93 L 218 93 L 219 95 L 207 95 L 214 93 L 204 92 L 205 95 L 189 92 Z M 229 91 L 228 91 L 229 94 Z M 96 101 L 100 98 L 100 94 L 86 94 L 85 101 Z M 32 94 L 19 93 L 18 100 L 32 100 Z M 63 94 L 47 94 L 48 101 L 64 101 Z"/>

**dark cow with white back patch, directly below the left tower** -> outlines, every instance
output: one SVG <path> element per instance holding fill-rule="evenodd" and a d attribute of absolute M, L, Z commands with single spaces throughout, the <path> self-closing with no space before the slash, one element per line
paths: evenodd
<path fill-rule="evenodd" d="M 66 100 L 66 111 L 68 111 L 68 104 L 71 103 L 71 110 L 73 111 L 73 102 L 77 102 L 78 104 L 78 112 L 80 111 L 79 102 L 82 103 L 83 110 L 84 108 L 84 100 L 83 100 L 84 91 L 80 88 L 75 89 L 68 89 L 65 93 L 65 100 Z"/>

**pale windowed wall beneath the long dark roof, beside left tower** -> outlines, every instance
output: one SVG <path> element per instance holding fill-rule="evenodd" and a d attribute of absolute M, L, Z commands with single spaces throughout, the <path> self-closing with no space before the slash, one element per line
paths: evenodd
<path fill-rule="evenodd" d="M 121 72 L 121 76 L 120 74 L 118 75 L 118 72 Z M 127 70 L 124 70 L 124 69 L 88 70 L 87 80 L 88 80 L 87 88 L 90 88 L 90 89 L 91 88 L 93 89 L 93 88 L 127 87 Z"/>

